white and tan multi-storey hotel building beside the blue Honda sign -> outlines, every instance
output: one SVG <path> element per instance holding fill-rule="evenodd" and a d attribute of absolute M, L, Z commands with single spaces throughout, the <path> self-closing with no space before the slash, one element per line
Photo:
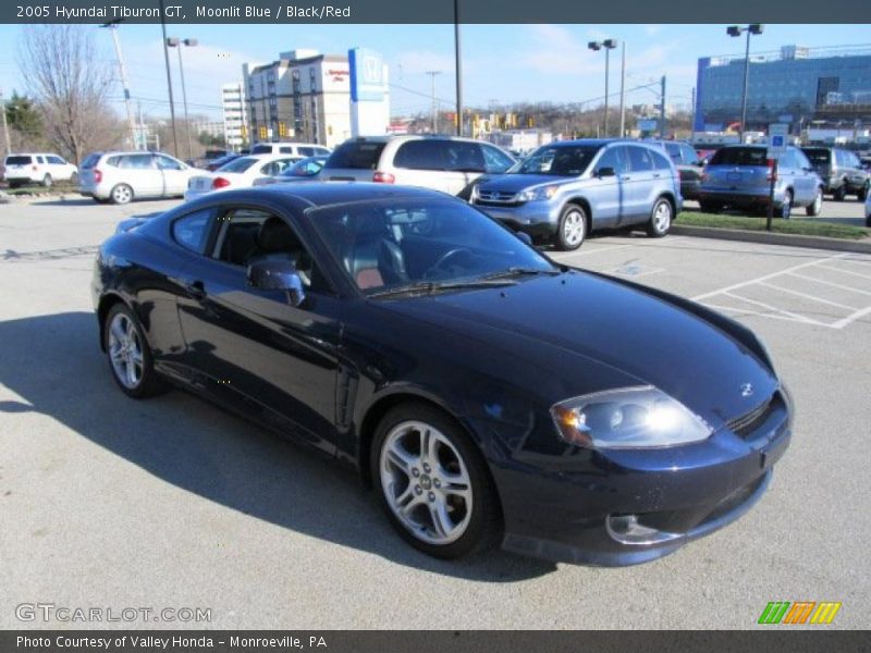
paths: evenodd
<path fill-rule="evenodd" d="M 242 66 L 248 134 L 257 141 L 334 147 L 351 136 L 347 56 L 282 52 L 278 61 Z"/>

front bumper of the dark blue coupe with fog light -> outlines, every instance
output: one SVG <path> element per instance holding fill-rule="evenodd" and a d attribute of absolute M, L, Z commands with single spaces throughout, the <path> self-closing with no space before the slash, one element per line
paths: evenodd
<path fill-rule="evenodd" d="M 553 562 L 626 566 L 723 528 L 764 494 L 789 445 L 789 406 L 783 398 L 771 406 L 741 435 L 723 428 L 706 442 L 671 451 L 582 451 L 551 463 L 539 456 L 535 470 L 494 467 L 503 549 Z"/>

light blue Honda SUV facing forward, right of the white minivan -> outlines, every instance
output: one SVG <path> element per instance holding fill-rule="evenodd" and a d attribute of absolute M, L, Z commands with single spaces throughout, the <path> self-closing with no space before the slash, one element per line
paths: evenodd
<path fill-rule="evenodd" d="M 577 249 L 591 231 L 645 225 L 664 236 L 683 207 L 680 177 L 660 147 L 630 140 L 563 140 L 507 174 L 487 176 L 470 201 L 532 237 Z"/>

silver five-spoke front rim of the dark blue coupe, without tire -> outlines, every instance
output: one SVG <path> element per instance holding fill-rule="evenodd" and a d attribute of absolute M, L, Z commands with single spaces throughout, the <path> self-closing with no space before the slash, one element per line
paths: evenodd
<path fill-rule="evenodd" d="M 381 485 L 391 510 L 417 539 L 450 544 L 471 517 L 468 470 L 457 449 L 430 424 L 403 422 L 381 449 Z"/>

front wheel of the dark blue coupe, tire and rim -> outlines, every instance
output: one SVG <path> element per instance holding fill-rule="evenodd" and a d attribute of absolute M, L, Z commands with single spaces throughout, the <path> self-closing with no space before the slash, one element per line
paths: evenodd
<path fill-rule="evenodd" d="M 382 507 L 415 549 L 453 559 L 499 542 L 501 510 L 483 457 L 441 410 L 422 403 L 391 409 L 369 463 Z"/>

